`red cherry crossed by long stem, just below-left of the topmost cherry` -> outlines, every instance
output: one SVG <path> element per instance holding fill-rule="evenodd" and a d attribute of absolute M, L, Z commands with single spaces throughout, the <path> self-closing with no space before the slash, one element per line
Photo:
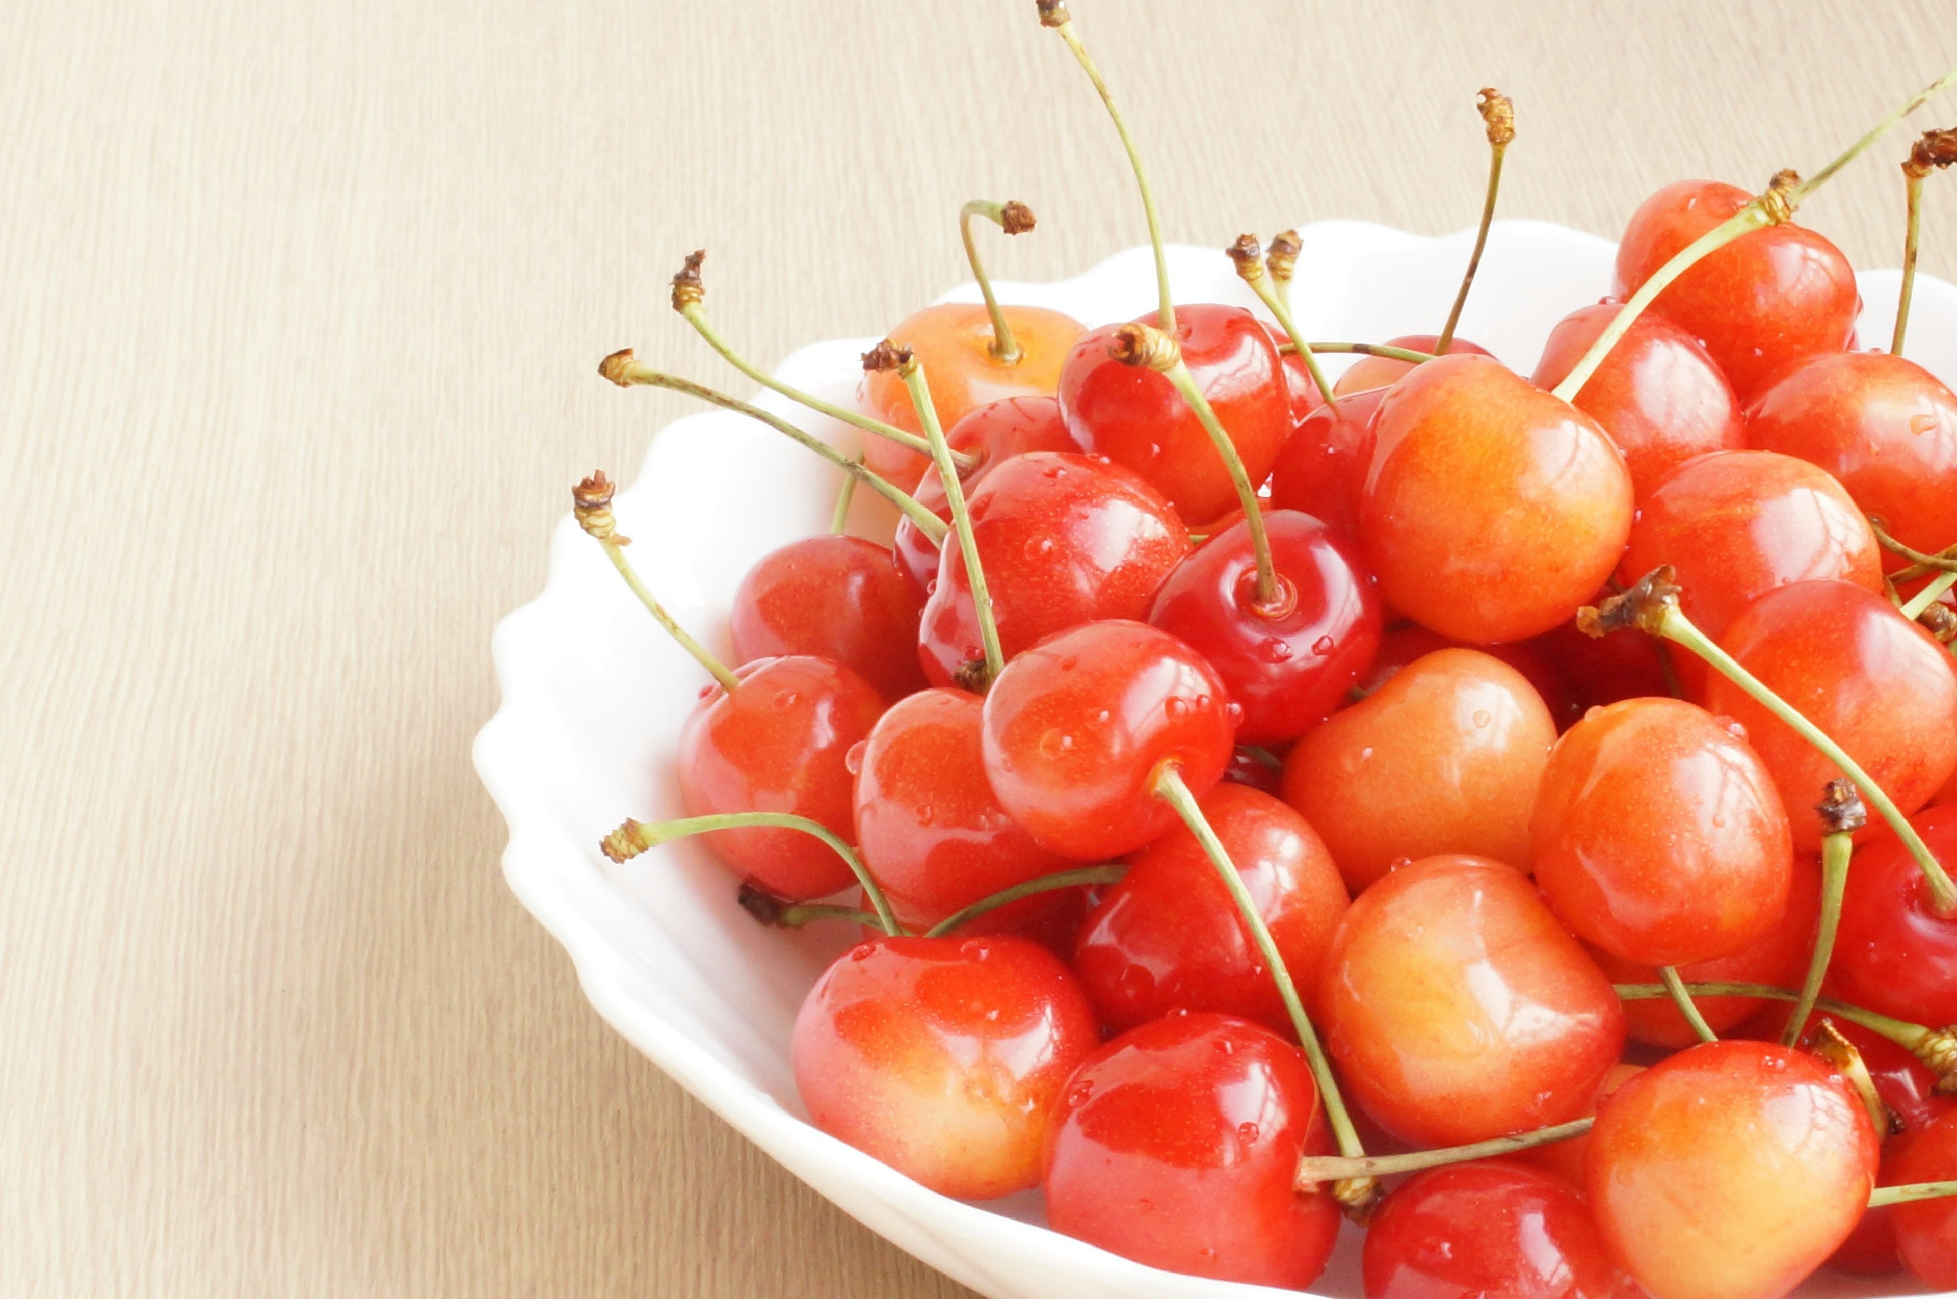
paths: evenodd
<path fill-rule="evenodd" d="M 1562 383 L 1622 307 L 1601 301 L 1566 315 L 1542 344 L 1534 383 Z M 1570 405 L 1603 425 L 1624 452 L 1640 497 L 1693 456 L 1746 446 L 1740 403 L 1712 356 L 1689 333 L 1650 311 L 1618 338 Z"/>

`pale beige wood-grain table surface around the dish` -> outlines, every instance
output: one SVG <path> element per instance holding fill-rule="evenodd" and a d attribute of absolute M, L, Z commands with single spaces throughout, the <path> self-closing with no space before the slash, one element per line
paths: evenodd
<path fill-rule="evenodd" d="M 1949 0 L 1074 0 L 1178 241 L 1605 235 L 1814 168 L 1957 61 Z M 1957 98 L 1912 127 L 1949 125 Z M 1804 221 L 1902 237 L 1898 135 Z M 1957 268 L 1932 180 L 1926 270 Z M 503 888 L 470 738 L 568 487 L 773 364 L 1139 243 L 1029 0 L 20 6 L 0 41 L 0 1291 L 963 1293 L 614 1037 Z"/>

